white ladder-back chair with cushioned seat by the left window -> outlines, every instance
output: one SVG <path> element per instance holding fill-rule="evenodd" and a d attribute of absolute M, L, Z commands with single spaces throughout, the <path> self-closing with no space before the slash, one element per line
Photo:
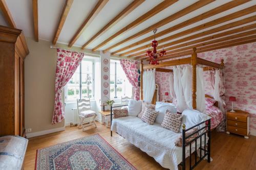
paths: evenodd
<path fill-rule="evenodd" d="M 79 117 L 79 125 L 82 126 L 82 131 L 84 128 L 91 126 L 94 124 L 95 128 L 97 128 L 95 123 L 95 118 L 97 114 L 95 111 L 91 110 L 91 101 L 86 99 L 76 100 L 77 102 L 77 113 Z"/>

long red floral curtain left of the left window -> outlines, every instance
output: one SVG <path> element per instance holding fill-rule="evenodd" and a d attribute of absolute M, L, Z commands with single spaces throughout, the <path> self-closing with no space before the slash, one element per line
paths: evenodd
<path fill-rule="evenodd" d="M 55 104 L 52 124 L 65 118 L 61 102 L 61 89 L 69 82 L 83 58 L 83 53 L 57 48 L 57 65 L 55 73 Z"/>

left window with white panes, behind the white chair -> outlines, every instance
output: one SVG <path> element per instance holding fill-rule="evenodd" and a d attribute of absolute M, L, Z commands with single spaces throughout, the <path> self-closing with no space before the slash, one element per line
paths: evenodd
<path fill-rule="evenodd" d="M 94 99 L 94 61 L 83 59 L 66 85 L 66 102 Z"/>

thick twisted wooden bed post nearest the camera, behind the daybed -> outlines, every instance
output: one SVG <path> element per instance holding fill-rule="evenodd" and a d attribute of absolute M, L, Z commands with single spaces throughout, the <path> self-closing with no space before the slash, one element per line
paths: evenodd
<path fill-rule="evenodd" d="M 191 56 L 192 65 L 192 106 L 193 109 L 197 109 L 197 48 L 193 48 L 193 54 Z"/>

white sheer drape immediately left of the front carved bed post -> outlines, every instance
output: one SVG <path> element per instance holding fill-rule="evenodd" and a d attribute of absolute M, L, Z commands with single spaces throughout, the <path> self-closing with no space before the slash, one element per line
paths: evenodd
<path fill-rule="evenodd" d="M 181 83 L 184 93 L 184 98 L 186 105 L 189 109 L 193 109 L 192 107 L 192 69 L 191 65 L 185 66 L 182 69 L 182 77 L 181 77 Z"/>

